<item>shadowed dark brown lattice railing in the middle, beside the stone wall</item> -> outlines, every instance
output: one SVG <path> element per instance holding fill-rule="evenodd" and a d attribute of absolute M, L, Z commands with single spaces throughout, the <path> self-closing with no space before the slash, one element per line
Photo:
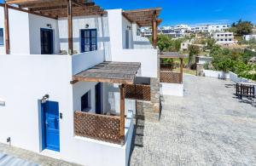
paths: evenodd
<path fill-rule="evenodd" d="M 136 100 L 151 100 L 151 88 L 150 85 L 128 85 L 125 84 L 125 98 Z"/>

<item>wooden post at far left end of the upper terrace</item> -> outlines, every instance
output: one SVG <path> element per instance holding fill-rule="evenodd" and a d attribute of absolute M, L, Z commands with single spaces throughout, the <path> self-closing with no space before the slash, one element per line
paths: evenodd
<path fill-rule="evenodd" d="M 10 54 L 9 47 L 9 5 L 4 3 L 4 31 L 5 31 L 5 51 Z"/>

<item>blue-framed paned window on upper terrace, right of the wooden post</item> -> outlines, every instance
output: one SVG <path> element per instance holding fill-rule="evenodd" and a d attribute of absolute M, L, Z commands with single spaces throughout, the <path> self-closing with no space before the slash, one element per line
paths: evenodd
<path fill-rule="evenodd" d="M 80 31 L 81 53 L 97 50 L 97 30 L 86 29 Z"/>

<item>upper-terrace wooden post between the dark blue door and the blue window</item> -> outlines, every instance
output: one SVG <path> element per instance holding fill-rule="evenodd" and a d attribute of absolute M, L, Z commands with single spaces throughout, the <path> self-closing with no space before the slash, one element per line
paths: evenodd
<path fill-rule="evenodd" d="M 72 0 L 67 0 L 68 54 L 73 54 L 73 11 Z"/>

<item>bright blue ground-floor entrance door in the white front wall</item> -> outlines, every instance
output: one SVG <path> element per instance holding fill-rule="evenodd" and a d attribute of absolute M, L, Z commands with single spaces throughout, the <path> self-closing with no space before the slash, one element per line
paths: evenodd
<path fill-rule="evenodd" d="M 60 152 L 59 104 L 46 101 L 42 104 L 43 150 Z"/>

